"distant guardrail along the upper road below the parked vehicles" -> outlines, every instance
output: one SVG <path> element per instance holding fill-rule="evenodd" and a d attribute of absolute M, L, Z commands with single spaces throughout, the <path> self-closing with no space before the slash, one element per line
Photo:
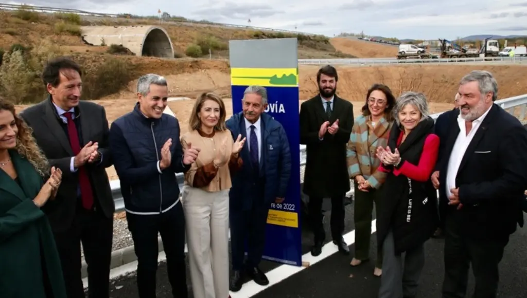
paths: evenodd
<path fill-rule="evenodd" d="M 298 59 L 299 64 L 332 64 L 332 65 L 362 65 L 362 64 L 451 64 L 451 63 L 527 63 L 527 57 L 472 57 L 472 58 L 436 58 L 436 59 L 397 59 L 397 58 L 353 58 L 353 59 Z"/>

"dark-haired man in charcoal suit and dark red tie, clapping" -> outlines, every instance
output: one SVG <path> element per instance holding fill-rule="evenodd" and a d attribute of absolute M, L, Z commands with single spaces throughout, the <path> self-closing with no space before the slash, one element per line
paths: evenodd
<path fill-rule="evenodd" d="M 33 128 L 51 166 L 62 170 L 62 184 L 47 214 L 68 298 L 84 298 L 81 242 L 88 265 L 89 297 L 108 298 L 113 238 L 112 192 L 105 168 L 112 165 L 104 107 L 80 101 L 82 72 L 70 59 L 57 58 L 44 68 L 49 96 L 21 113 Z"/>

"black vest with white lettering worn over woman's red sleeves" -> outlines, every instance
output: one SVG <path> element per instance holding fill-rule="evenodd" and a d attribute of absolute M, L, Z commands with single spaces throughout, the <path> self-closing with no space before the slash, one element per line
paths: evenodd
<path fill-rule="evenodd" d="M 434 121 L 427 118 L 417 124 L 406 140 L 397 145 L 401 129 L 394 125 L 388 146 L 401 154 L 401 162 L 419 164 L 426 138 L 434 132 Z M 387 169 L 390 166 L 383 166 Z M 390 170 L 393 170 L 391 166 Z M 395 253 L 400 254 L 428 240 L 437 227 L 436 192 L 430 178 L 426 182 L 390 172 L 383 185 L 377 216 L 377 243 L 382 246 L 389 230 L 394 234 Z"/>

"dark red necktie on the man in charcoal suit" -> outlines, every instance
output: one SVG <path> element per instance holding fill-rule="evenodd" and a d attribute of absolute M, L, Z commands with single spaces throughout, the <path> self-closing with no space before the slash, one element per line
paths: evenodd
<path fill-rule="evenodd" d="M 66 112 L 64 116 L 67 119 L 67 133 L 70 135 L 70 145 L 73 150 L 73 154 L 77 155 L 81 152 L 81 143 L 79 142 L 79 134 L 77 134 L 77 127 L 73 122 L 73 113 Z M 86 168 L 81 166 L 79 168 L 79 183 L 81 184 L 81 198 L 82 206 L 87 210 L 91 210 L 93 206 L 93 192 L 90 184 L 90 178 L 86 173 Z"/>

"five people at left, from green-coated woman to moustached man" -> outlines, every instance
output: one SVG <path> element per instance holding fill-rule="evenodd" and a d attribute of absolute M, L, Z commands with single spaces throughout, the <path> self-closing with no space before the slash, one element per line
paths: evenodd
<path fill-rule="evenodd" d="M 259 268 L 267 212 L 285 200 L 291 156 L 284 128 L 264 113 L 264 87 L 249 86 L 243 111 L 229 120 L 222 99 L 202 93 L 180 138 L 177 118 L 163 113 L 162 76 L 141 76 L 137 103 L 111 127 L 104 107 L 80 100 L 77 63 L 53 59 L 42 79 L 47 99 L 22 113 L 0 99 L 2 297 L 85 297 L 81 243 L 88 296 L 109 297 L 115 206 L 105 168 L 112 165 L 139 297 L 156 296 L 158 234 L 174 297 L 188 296 L 185 244 L 196 298 L 227 298 L 248 279 L 269 283 Z M 184 173 L 182 190 L 175 173 Z"/>

